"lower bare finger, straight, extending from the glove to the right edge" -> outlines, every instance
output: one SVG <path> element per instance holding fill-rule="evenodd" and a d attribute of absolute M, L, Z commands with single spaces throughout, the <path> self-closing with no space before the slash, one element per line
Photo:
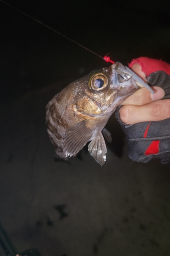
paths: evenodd
<path fill-rule="evenodd" d="M 124 105 L 120 108 L 119 115 L 127 124 L 164 120 L 170 118 L 170 99 L 158 100 L 142 106 Z"/>

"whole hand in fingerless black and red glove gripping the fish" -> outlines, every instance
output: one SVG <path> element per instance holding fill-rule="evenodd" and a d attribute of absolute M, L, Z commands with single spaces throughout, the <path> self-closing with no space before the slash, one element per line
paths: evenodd
<path fill-rule="evenodd" d="M 161 60 L 140 57 L 130 65 L 152 85 L 155 94 L 141 88 L 128 97 L 116 111 L 128 140 L 128 155 L 133 161 L 147 163 L 153 158 L 170 162 L 170 65 Z M 163 89 L 162 89 L 163 88 Z"/>

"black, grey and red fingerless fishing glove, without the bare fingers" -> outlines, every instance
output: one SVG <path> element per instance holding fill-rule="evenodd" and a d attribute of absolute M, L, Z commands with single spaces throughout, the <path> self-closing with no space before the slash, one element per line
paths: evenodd
<path fill-rule="evenodd" d="M 170 98 L 170 65 L 162 60 L 140 57 L 129 64 L 139 63 L 147 76 L 150 86 L 159 86 L 165 91 L 163 99 Z M 120 120 L 119 106 L 116 118 L 128 140 L 129 158 L 133 161 L 147 163 L 153 158 L 161 163 L 170 162 L 170 118 L 162 121 L 141 122 L 128 125 Z"/>

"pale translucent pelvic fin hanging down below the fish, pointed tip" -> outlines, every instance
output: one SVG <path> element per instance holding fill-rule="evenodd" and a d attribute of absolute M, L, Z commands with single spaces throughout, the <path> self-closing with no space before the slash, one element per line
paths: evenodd
<path fill-rule="evenodd" d="M 105 139 L 101 132 L 99 132 L 89 143 L 88 151 L 90 155 L 96 160 L 96 162 L 100 163 L 101 165 L 105 163 L 107 148 Z"/>

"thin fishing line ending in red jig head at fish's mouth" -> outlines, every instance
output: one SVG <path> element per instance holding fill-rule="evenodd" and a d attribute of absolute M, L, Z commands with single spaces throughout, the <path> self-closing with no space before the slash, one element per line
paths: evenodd
<path fill-rule="evenodd" d="M 64 38 L 66 38 L 67 40 L 69 40 L 69 41 L 71 41 L 71 42 L 74 42 L 74 44 L 76 44 L 76 45 L 78 45 L 78 46 L 80 46 L 80 47 L 84 48 L 85 50 L 87 50 L 87 51 L 89 51 L 89 52 L 93 53 L 94 55 L 96 55 L 96 56 L 98 56 L 98 57 L 100 57 L 100 58 L 104 59 L 106 62 L 114 63 L 114 61 L 113 61 L 113 60 L 111 60 L 109 56 L 105 55 L 104 57 L 102 57 L 102 56 L 100 56 L 99 54 L 97 54 L 97 53 L 95 53 L 95 52 L 93 52 L 93 51 L 89 50 L 89 49 L 88 49 L 88 48 L 86 48 L 85 46 L 83 46 L 83 45 L 79 44 L 78 42 L 76 42 L 76 41 L 72 40 L 71 38 L 69 38 L 69 37 L 67 37 L 67 36 L 63 35 L 62 33 L 58 32 L 57 30 L 53 29 L 52 27 L 50 27 L 50 26 L 48 26 L 48 25 L 44 24 L 44 23 L 43 23 L 43 22 L 41 22 L 39 19 L 36 19 L 36 18 L 34 18 L 34 17 L 30 16 L 29 14 L 27 14 L 27 13 L 25 13 L 25 12 L 23 12 L 23 11 L 21 11 L 21 10 L 17 9 L 16 7 L 14 7 L 14 6 L 12 6 L 12 5 L 10 5 L 10 4 L 8 4 L 8 3 L 4 2 L 3 0 L 0 0 L 0 2 L 2 2 L 2 3 L 4 3 L 5 5 L 7 5 L 7 6 L 11 7 L 11 8 L 12 8 L 12 9 L 14 9 L 15 11 L 20 12 L 21 14 L 23 14 L 23 15 L 25 15 L 25 16 L 27 16 L 27 17 L 29 17 L 29 18 L 33 19 L 33 20 L 35 20 L 35 22 L 37 22 L 37 23 L 41 24 L 42 26 L 44 26 L 44 27 L 46 27 L 46 28 L 48 28 L 48 29 L 50 29 L 50 30 L 54 31 L 55 33 L 57 33 L 57 34 L 59 34 L 59 35 L 63 36 L 63 37 L 64 37 Z"/>

